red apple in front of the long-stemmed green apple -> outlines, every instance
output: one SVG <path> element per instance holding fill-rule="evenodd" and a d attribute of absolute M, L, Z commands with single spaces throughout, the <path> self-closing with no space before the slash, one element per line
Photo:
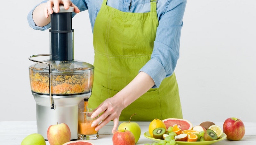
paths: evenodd
<path fill-rule="evenodd" d="M 135 145 L 135 137 L 131 131 L 125 129 L 117 130 L 112 137 L 113 145 Z"/>

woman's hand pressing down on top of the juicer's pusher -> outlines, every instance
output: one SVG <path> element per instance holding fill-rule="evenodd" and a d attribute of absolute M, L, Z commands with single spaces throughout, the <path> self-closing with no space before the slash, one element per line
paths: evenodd
<path fill-rule="evenodd" d="M 60 4 L 64 5 L 64 8 L 66 10 L 69 9 L 69 6 L 72 6 L 72 7 L 74 7 L 74 12 L 75 13 L 80 12 L 78 7 L 74 3 L 72 3 L 70 0 L 49 0 L 48 2 L 46 2 L 46 5 L 44 7 L 45 17 L 47 18 L 47 17 L 49 17 L 49 14 L 53 13 L 52 6 L 54 6 L 54 9 L 55 9 L 54 12 L 56 12 L 56 13 L 59 12 L 60 11 L 60 8 L 59 8 Z"/>

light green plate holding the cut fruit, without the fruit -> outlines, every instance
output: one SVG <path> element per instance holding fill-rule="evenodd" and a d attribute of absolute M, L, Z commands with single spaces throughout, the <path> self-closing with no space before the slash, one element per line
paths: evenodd
<path fill-rule="evenodd" d="M 145 136 L 146 138 L 148 138 L 148 139 L 154 141 L 154 142 L 159 142 L 159 141 L 161 141 L 161 140 L 159 140 L 159 139 L 153 138 L 153 137 L 148 133 L 148 131 L 144 133 L 144 136 Z M 220 136 L 220 138 L 217 139 L 217 140 L 215 140 L 215 141 L 205 141 L 205 142 L 178 142 L 178 141 L 176 141 L 176 143 L 177 143 L 178 145 L 210 145 L 210 144 L 215 143 L 215 142 L 220 142 L 220 141 L 224 140 L 225 138 L 227 138 L 227 135 L 224 134 L 224 133 L 222 133 L 222 135 Z"/>

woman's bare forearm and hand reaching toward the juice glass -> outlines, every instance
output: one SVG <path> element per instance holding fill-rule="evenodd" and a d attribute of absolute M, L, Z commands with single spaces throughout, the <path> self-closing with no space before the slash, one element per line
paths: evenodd
<path fill-rule="evenodd" d="M 115 96 L 103 101 L 97 110 L 92 114 L 92 118 L 104 112 L 92 122 L 92 126 L 97 125 L 102 121 L 95 130 L 99 130 L 109 121 L 114 121 L 112 133 L 118 127 L 118 120 L 122 110 L 130 105 L 133 101 L 138 99 L 141 95 L 146 93 L 155 83 L 153 79 L 145 72 L 139 72 L 138 75 Z"/>

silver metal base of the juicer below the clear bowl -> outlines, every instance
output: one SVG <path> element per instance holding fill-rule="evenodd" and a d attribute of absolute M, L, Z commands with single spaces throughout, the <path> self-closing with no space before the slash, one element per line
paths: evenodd
<path fill-rule="evenodd" d="M 36 101 L 37 133 L 47 140 L 47 130 L 50 125 L 66 123 L 71 132 L 71 141 L 77 140 L 78 129 L 78 104 L 84 98 L 89 98 L 90 93 L 70 96 L 53 96 L 56 108 L 51 109 L 49 96 L 32 93 Z"/>

